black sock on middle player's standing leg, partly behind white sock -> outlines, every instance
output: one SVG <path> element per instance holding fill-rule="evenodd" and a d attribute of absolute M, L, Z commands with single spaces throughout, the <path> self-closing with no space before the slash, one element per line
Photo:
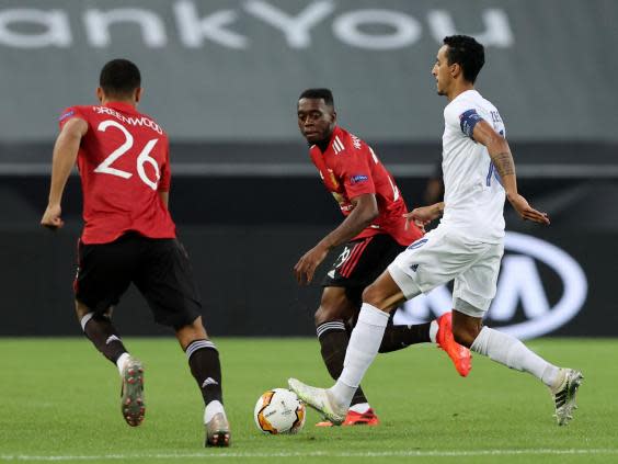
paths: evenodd
<path fill-rule="evenodd" d="M 321 353 L 324 364 L 331 377 L 336 381 L 343 371 L 343 360 L 345 359 L 345 350 L 350 342 L 350 336 L 347 335 L 344 324 L 340 320 L 320 324 L 316 330 L 318 332 L 318 340 L 322 347 Z M 360 403 L 369 401 L 367 401 L 363 389 L 358 386 L 352 398 L 351 406 Z"/>

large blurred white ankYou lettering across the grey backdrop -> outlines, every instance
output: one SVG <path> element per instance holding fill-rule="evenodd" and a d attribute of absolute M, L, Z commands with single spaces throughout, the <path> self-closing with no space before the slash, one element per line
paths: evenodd
<path fill-rule="evenodd" d="M 53 0 L 49 0 L 52 3 Z M 104 4 L 103 0 L 100 0 Z M 88 2 L 96 4 L 96 1 Z M 130 3 L 130 1 L 127 1 Z M 332 34 L 339 42 L 355 48 L 370 50 L 400 49 L 420 41 L 423 32 L 421 21 L 403 11 L 384 9 L 352 9 L 341 11 L 330 20 L 337 4 L 334 0 L 313 0 L 306 2 L 300 12 L 288 12 L 266 0 L 247 0 L 237 9 L 220 9 L 204 13 L 198 11 L 202 2 L 176 0 L 169 3 L 170 11 L 154 11 L 147 8 L 117 8 L 102 10 L 87 8 L 82 10 L 82 25 L 85 29 L 88 44 L 105 48 L 114 41 L 116 27 L 139 26 L 139 32 L 147 48 L 162 48 L 169 44 L 164 18 L 172 15 L 179 41 L 184 47 L 201 48 L 209 44 L 231 49 L 248 49 L 253 41 L 249 34 L 255 27 L 240 30 L 247 21 L 259 20 L 283 33 L 285 45 L 293 49 L 308 48 L 312 45 L 313 31 L 327 21 L 332 21 Z M 76 3 L 81 4 L 81 3 Z M 140 5 L 149 4 L 145 0 Z M 281 4 L 287 5 L 281 1 Z M 376 5 L 380 3 L 375 2 Z M 0 46 L 19 48 L 68 47 L 72 44 L 69 14 L 75 10 L 1 9 L 0 8 Z M 478 11 L 483 29 L 473 33 L 447 10 L 427 10 L 426 30 L 440 44 L 447 35 L 467 33 L 477 37 L 485 46 L 510 47 L 515 39 L 504 10 L 481 9 Z M 72 19 L 72 24 L 79 24 Z M 241 22 L 242 21 L 242 22 Z M 169 26 L 169 25 L 168 25 Z M 324 29 L 320 29 L 324 33 Z M 170 33 L 171 34 L 171 33 Z M 328 37 L 329 39 L 331 37 Z M 270 43 L 261 43 L 271 47 Z M 281 45 L 281 44 L 275 44 Z"/>

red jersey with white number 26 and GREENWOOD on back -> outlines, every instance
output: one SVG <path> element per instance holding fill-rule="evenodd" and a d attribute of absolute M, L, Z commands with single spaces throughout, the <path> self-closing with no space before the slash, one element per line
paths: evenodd
<path fill-rule="evenodd" d="M 161 126 L 127 103 L 71 106 L 60 127 L 88 123 L 78 169 L 83 192 L 84 244 L 107 244 L 127 231 L 174 238 L 175 225 L 158 192 L 170 190 L 169 140 Z"/>

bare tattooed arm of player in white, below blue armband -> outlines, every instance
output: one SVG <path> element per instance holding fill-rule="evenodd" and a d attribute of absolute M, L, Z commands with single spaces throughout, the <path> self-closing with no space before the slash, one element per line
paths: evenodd
<path fill-rule="evenodd" d="M 519 217 L 524 220 L 533 220 L 540 224 L 549 224 L 547 213 L 541 213 L 531 207 L 526 199 L 517 193 L 517 177 L 515 174 L 515 162 L 508 143 L 504 137 L 497 134 L 487 121 L 479 121 L 474 125 L 472 136 L 476 142 L 487 147 L 493 165 L 500 178 L 502 185 L 506 191 L 506 197 L 513 205 Z"/>

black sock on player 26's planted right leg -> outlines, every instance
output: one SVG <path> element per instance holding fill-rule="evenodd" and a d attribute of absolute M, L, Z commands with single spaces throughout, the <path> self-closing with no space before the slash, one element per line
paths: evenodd
<path fill-rule="evenodd" d="M 191 373 L 195 377 L 204 404 L 217 400 L 224 404 L 221 391 L 221 364 L 219 352 L 210 340 L 194 340 L 185 350 Z"/>

